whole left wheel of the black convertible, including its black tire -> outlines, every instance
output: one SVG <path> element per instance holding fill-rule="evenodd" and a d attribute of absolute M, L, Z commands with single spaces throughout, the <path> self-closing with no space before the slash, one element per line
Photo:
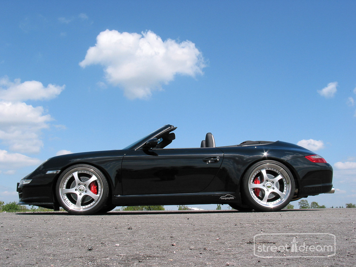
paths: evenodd
<path fill-rule="evenodd" d="M 99 169 L 78 164 L 59 176 L 56 196 L 63 209 L 74 215 L 90 215 L 104 208 L 109 197 L 109 185 Z"/>

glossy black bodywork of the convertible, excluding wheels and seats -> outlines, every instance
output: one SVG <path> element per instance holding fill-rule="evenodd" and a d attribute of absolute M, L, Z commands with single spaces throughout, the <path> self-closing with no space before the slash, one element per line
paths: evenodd
<path fill-rule="evenodd" d="M 61 171 L 74 164 L 89 164 L 102 171 L 110 186 L 111 201 L 120 205 L 244 204 L 241 179 L 246 170 L 263 160 L 285 164 L 292 172 L 294 199 L 329 192 L 333 169 L 328 163 L 312 163 L 313 152 L 286 142 L 246 142 L 214 148 L 149 148 L 174 139 L 176 127 L 165 125 L 123 150 L 62 155 L 48 159 L 26 176 L 20 185 L 19 203 L 58 209 L 54 194 Z M 160 139 L 161 138 L 161 139 Z M 151 140 L 151 144 L 147 141 Z M 161 143 L 161 145 L 160 145 Z M 47 173 L 59 171 L 59 173 Z M 23 178 L 23 179 L 25 179 Z"/>

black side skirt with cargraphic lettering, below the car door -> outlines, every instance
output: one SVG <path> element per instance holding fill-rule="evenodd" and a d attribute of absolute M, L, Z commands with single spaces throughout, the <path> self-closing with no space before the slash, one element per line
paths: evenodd
<path fill-rule="evenodd" d="M 228 204 L 237 201 L 236 192 L 200 192 L 185 194 L 114 195 L 112 204 L 136 205 L 194 205 Z"/>

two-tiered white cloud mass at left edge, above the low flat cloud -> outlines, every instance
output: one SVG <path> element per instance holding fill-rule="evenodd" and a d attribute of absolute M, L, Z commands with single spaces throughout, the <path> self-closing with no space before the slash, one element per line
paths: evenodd
<path fill-rule="evenodd" d="M 55 98 L 63 86 L 49 84 L 43 87 L 37 81 L 20 82 L 16 79 L 0 79 L 0 140 L 11 151 L 21 153 L 40 152 L 43 142 L 42 130 L 48 128 L 51 115 L 42 106 L 33 107 L 24 100 L 47 100 Z"/>

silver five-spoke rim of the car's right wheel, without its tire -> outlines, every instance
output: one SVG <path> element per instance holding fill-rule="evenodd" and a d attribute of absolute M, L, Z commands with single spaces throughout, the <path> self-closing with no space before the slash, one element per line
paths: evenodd
<path fill-rule="evenodd" d="M 253 183 L 256 176 L 260 174 L 263 176 L 263 181 L 260 184 Z M 263 163 L 257 166 L 248 179 L 250 196 L 255 203 L 265 208 L 277 208 L 285 204 L 291 193 L 291 188 L 291 178 L 287 171 L 274 163 Z M 260 189 L 263 192 L 261 194 L 263 197 L 257 197 L 254 189 Z M 269 199 L 274 200 L 268 201 Z"/>

